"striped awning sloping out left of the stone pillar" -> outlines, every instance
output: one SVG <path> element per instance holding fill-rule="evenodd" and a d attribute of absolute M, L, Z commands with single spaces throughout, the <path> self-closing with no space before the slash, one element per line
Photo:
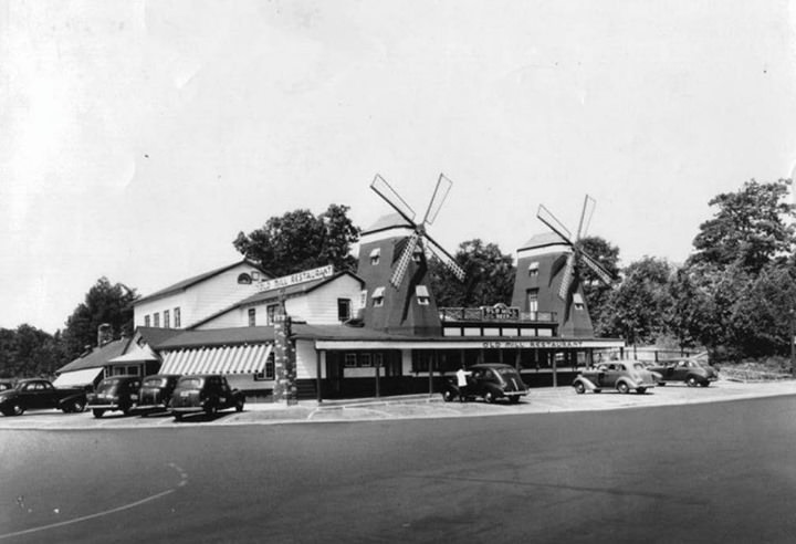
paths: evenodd
<path fill-rule="evenodd" d="M 265 368 L 272 348 L 252 344 L 168 352 L 159 374 L 256 374 Z"/>

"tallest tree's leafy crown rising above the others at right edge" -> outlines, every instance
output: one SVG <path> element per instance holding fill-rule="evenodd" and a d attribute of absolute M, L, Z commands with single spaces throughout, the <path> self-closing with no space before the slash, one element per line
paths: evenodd
<path fill-rule="evenodd" d="M 700 226 L 688 264 L 726 268 L 737 263 L 757 273 L 776 255 L 793 253 L 794 227 L 785 222 L 794 216 L 794 205 L 786 201 L 790 184 L 789 179 L 771 184 L 752 179 L 737 192 L 711 199 L 710 206 L 719 209 Z"/>

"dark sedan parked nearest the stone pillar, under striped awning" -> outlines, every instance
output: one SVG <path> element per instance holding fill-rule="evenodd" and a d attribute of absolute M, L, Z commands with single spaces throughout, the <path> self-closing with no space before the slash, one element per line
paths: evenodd
<path fill-rule="evenodd" d="M 227 378 L 218 374 L 182 376 L 171 394 L 171 415 L 176 421 L 188 414 L 205 412 L 209 416 L 219 410 L 243 410 L 245 395 L 232 389 Z"/>

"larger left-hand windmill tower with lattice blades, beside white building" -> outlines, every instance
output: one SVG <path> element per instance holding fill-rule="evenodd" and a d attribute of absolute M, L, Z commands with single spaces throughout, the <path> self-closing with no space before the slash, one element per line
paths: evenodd
<path fill-rule="evenodd" d="M 379 219 L 362 233 L 357 274 L 365 280 L 363 299 L 365 325 L 391 333 L 439 335 L 441 324 L 437 303 L 428 285 L 428 260 L 431 251 L 459 280 L 464 271 L 428 232 L 434 222 L 451 180 L 440 175 L 422 221 L 381 176 L 370 188 L 397 213 Z"/>

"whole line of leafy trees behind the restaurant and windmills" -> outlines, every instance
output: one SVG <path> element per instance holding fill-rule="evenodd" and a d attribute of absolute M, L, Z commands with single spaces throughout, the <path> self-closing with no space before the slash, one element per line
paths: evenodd
<path fill-rule="evenodd" d="M 796 320 L 796 232 L 792 180 L 752 179 L 737 191 L 710 200 L 684 263 L 643 257 L 620 266 L 620 250 L 600 237 L 578 241 L 618 281 L 603 284 L 579 270 L 597 336 L 629 344 L 705 347 L 716 360 L 787 355 Z M 356 271 L 353 245 L 360 229 L 349 208 L 331 205 L 315 216 L 298 209 L 272 217 L 262 228 L 240 232 L 233 247 L 244 257 L 285 275 L 326 264 Z M 480 239 L 461 242 L 454 254 L 465 271 L 457 281 L 439 261 L 429 262 L 439 306 L 511 303 L 516 266 L 511 253 Z M 133 332 L 135 289 L 101 278 L 51 335 L 29 324 L 0 328 L 0 377 L 52 375 L 97 345 L 101 324 L 113 337 Z"/>

